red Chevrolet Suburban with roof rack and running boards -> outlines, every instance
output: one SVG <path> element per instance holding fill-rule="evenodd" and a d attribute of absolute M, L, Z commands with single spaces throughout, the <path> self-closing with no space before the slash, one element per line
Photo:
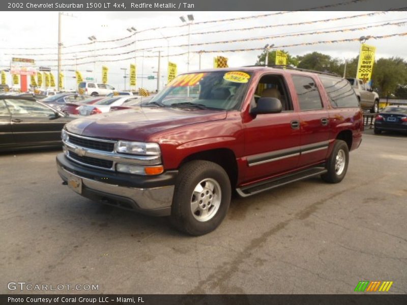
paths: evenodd
<path fill-rule="evenodd" d="M 300 69 L 242 67 L 177 76 L 147 104 L 76 119 L 57 170 L 84 197 L 213 231 L 243 197 L 346 174 L 363 118 L 350 83 Z"/>

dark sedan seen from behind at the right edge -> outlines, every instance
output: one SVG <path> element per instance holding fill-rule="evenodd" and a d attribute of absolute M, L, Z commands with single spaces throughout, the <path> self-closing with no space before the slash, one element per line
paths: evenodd
<path fill-rule="evenodd" d="M 374 133 L 382 131 L 407 132 L 407 106 L 387 106 L 374 120 Z"/>

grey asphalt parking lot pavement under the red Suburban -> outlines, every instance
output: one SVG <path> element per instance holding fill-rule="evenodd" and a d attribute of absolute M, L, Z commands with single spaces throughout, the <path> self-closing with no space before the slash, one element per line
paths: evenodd
<path fill-rule="evenodd" d="M 407 136 L 365 131 L 345 179 L 232 200 L 214 232 L 95 204 L 61 185 L 58 150 L 0 155 L 0 293 L 9 282 L 98 284 L 68 293 L 407 293 Z"/>

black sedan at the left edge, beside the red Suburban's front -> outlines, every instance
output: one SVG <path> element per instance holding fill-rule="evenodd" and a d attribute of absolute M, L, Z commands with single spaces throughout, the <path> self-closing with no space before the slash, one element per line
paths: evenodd
<path fill-rule="evenodd" d="M 0 95 L 0 151 L 61 145 L 73 119 L 33 98 Z"/>

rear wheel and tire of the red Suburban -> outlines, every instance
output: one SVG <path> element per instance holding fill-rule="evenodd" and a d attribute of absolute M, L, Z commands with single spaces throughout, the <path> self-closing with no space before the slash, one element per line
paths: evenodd
<path fill-rule="evenodd" d="M 331 156 L 327 162 L 328 172 L 321 175 L 321 178 L 329 183 L 338 183 L 346 175 L 349 164 L 349 149 L 345 141 L 336 140 Z"/>

